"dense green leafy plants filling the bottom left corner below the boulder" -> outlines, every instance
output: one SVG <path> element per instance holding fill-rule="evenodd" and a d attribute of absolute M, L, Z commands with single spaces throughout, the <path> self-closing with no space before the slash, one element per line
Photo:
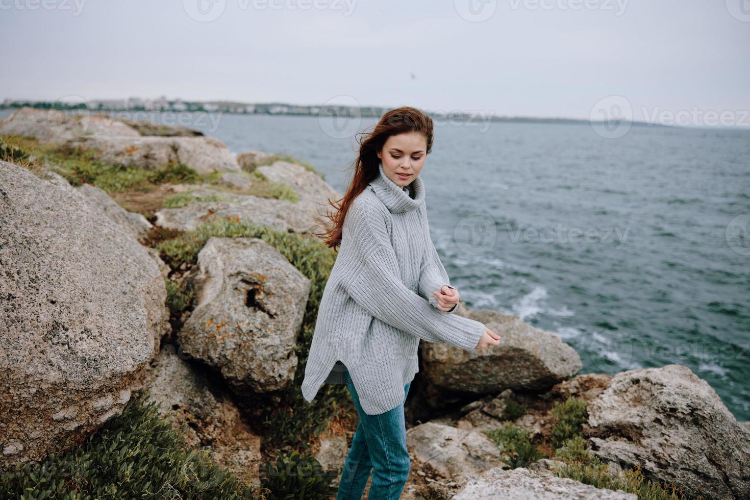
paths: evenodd
<path fill-rule="evenodd" d="M 187 448 L 184 436 L 136 393 L 121 415 L 83 445 L 16 466 L 0 477 L 3 499 L 263 499 L 264 492 Z"/>

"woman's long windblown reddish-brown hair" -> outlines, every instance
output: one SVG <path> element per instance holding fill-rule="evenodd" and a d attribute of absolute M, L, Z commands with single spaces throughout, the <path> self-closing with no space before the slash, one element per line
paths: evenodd
<path fill-rule="evenodd" d="M 358 139 L 359 156 L 350 166 L 350 168 L 354 168 L 354 175 L 347 188 L 347 193 L 335 202 L 332 202 L 331 199 L 328 200 L 329 205 L 335 209 L 331 212 L 326 208 L 326 217 L 331 220 L 332 224 L 323 233 L 313 233 L 318 238 L 325 238 L 326 246 L 336 250 L 341 244 L 341 228 L 344 226 L 344 218 L 347 217 L 347 211 L 351 203 L 359 193 L 365 190 L 370 181 L 380 175 L 380 159 L 377 157 L 377 151 L 383 149 L 383 145 L 386 144 L 386 140 L 390 136 L 407 132 L 422 133 L 427 139 L 427 152 L 425 154 L 430 154 L 434 139 L 432 118 L 411 106 L 391 109 L 380 118 L 371 132 L 358 134 L 361 136 Z"/>

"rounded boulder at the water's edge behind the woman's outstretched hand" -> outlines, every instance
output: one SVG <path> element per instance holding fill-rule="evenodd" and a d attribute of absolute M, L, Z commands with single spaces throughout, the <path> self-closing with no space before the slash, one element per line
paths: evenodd
<path fill-rule="evenodd" d="M 487 325 L 501 337 L 500 346 L 466 352 L 445 343 L 422 343 L 424 373 L 437 394 L 446 389 L 475 394 L 496 394 L 506 388 L 543 391 L 583 367 L 578 353 L 559 336 L 518 316 L 469 310 L 463 303 L 454 314 Z"/>

